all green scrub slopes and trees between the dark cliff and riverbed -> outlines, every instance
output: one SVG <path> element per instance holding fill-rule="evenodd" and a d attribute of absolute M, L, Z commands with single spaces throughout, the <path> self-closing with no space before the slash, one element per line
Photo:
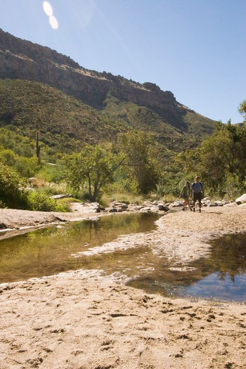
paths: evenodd
<path fill-rule="evenodd" d="M 0 80 L 0 96 L 0 206 L 67 209 L 49 197 L 64 191 L 101 202 L 107 201 L 103 194 L 112 200 L 117 193 L 177 197 L 198 172 L 207 194 L 231 198 L 245 188 L 243 125 L 212 127 L 201 117 L 202 127 L 194 120 L 198 115 L 186 112 L 186 133 L 115 96 L 96 110 L 51 86 L 20 79 Z M 30 177 L 36 178 L 31 193 Z"/>

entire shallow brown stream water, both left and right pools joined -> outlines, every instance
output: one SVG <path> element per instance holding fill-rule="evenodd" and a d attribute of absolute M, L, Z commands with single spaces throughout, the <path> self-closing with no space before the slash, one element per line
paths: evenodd
<path fill-rule="evenodd" d="M 156 229 L 158 214 L 120 214 L 82 221 L 1 240 L 0 283 L 49 276 L 77 269 L 118 272 L 128 285 L 170 297 L 246 301 L 246 234 L 226 235 L 210 242 L 210 256 L 171 269 L 162 254 L 147 245 L 86 256 L 81 252 L 117 240 L 120 235 Z M 79 257 L 75 257 L 79 255 Z"/>

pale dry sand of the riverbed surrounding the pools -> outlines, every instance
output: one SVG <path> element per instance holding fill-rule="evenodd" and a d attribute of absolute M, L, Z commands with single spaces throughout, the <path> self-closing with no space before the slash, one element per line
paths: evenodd
<path fill-rule="evenodd" d="M 54 216 L 4 210 L 1 222 L 15 226 Z M 60 214 L 66 221 L 83 217 Z M 207 241 L 244 233 L 245 219 L 246 207 L 235 204 L 171 212 L 157 230 L 106 247 L 145 244 L 186 268 L 206 257 Z M 125 285 L 118 273 L 82 269 L 2 284 L 0 324 L 1 369 L 246 368 L 245 302 L 162 297 Z"/>

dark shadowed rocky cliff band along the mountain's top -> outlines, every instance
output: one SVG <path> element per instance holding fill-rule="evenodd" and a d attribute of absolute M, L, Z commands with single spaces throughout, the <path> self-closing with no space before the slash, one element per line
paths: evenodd
<path fill-rule="evenodd" d="M 173 93 L 155 84 L 86 70 L 67 56 L 0 29 L 0 79 L 6 78 L 48 84 L 98 110 L 105 107 L 108 96 L 114 96 L 153 110 L 181 131 L 187 128 L 183 116 L 193 112 L 178 103 Z"/>

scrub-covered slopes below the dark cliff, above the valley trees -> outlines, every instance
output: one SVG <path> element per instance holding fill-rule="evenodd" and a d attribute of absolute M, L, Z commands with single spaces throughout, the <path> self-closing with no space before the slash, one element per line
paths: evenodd
<path fill-rule="evenodd" d="M 202 124 L 207 134 L 214 127 L 205 117 L 202 124 L 195 122 L 195 116 L 188 112 L 184 119 L 190 129 L 185 134 L 144 106 L 110 96 L 105 108 L 96 110 L 46 84 L 20 79 L 0 80 L 0 96 L 0 127 L 30 140 L 39 131 L 49 153 L 73 153 L 84 143 L 116 143 L 119 133 L 131 129 L 154 134 L 161 150 L 181 151 L 206 136 Z"/>

